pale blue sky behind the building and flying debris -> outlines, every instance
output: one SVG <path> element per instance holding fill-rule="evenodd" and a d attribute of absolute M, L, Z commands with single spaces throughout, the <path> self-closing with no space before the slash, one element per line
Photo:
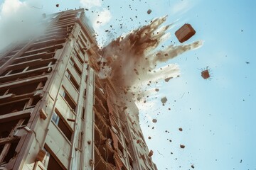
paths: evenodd
<path fill-rule="evenodd" d="M 191 23 L 196 35 L 183 43 L 203 40 L 203 46 L 164 63 L 178 64 L 181 76 L 151 85 L 160 89 L 149 97 L 151 107 L 140 105 L 142 130 L 149 149 L 154 151 L 153 160 L 160 170 L 191 169 L 191 164 L 195 169 L 256 169 L 256 1 L 8 1 L 40 14 L 88 8 L 87 16 L 99 34 L 100 45 L 166 15 L 166 23 L 175 22 L 175 26 L 163 45 L 180 45 L 174 33 L 184 23 Z M 1 32 L 4 17 L 16 13 L 4 16 L 4 1 L 0 2 Z M 150 15 L 146 13 L 149 8 Z M 105 24 L 97 25 L 96 21 Z M 105 33 L 110 26 L 114 28 L 112 33 Z M 211 70 L 211 80 L 201 77 L 201 69 L 206 67 Z M 160 98 L 164 96 L 168 101 L 162 106 Z M 151 118 L 157 123 L 151 123 Z M 180 144 L 186 147 L 181 149 Z"/>

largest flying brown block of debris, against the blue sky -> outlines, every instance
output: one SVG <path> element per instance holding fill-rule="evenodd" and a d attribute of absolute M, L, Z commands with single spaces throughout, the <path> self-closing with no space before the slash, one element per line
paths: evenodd
<path fill-rule="evenodd" d="M 196 30 L 189 23 L 185 23 L 181 28 L 176 30 L 175 35 L 179 42 L 184 42 L 195 35 Z"/>

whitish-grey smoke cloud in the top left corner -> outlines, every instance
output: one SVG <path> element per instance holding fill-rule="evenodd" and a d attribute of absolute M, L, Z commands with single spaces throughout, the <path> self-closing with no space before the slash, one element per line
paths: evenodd
<path fill-rule="evenodd" d="M 27 40 L 43 33 L 39 1 L 5 0 L 0 11 L 0 50 L 11 42 Z"/>

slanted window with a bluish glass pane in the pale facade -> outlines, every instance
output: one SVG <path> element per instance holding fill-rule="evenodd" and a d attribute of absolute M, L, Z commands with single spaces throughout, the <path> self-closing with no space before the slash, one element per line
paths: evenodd
<path fill-rule="evenodd" d="M 67 137 L 68 140 L 71 141 L 72 131 L 68 128 L 68 125 L 65 124 L 63 118 L 60 118 L 60 113 L 56 110 L 53 113 L 52 121 L 53 123 L 55 123 L 55 125 L 58 125 L 58 128 L 60 128 L 65 137 Z"/>

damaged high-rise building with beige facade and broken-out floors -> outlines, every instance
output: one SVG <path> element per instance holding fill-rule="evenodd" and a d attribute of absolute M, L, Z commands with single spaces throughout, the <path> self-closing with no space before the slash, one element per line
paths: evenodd
<path fill-rule="evenodd" d="M 43 18 L 43 35 L 1 53 L 0 169 L 156 169 L 137 107 L 97 77 L 84 10 Z"/>

